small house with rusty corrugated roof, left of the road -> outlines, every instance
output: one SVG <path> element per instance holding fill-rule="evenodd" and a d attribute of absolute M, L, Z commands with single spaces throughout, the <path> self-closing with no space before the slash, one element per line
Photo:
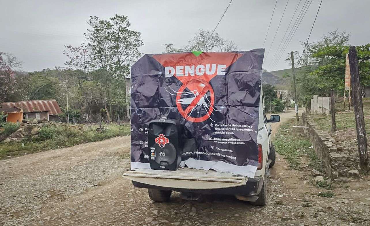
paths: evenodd
<path fill-rule="evenodd" d="M 1 103 L 1 107 L 4 109 L 11 109 L 14 107 L 21 109 L 23 111 L 23 119 L 26 120 L 37 119 L 54 121 L 57 118 L 58 114 L 62 113 L 56 100 L 27 100 L 19 102 L 4 102 Z"/>

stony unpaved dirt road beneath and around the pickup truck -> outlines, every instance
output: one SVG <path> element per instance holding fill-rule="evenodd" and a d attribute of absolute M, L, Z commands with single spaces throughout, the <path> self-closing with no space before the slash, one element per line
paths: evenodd
<path fill-rule="evenodd" d="M 284 121 L 294 114 L 291 111 L 280 116 Z M 278 125 L 273 124 L 273 129 Z M 153 203 L 146 189 L 134 188 L 121 177 L 129 168 L 129 145 L 128 136 L 116 137 L 0 161 L 0 225 L 369 223 L 364 217 L 368 213 L 360 207 L 370 201 L 353 195 L 357 189 L 369 191 L 369 182 L 349 183 L 334 198 L 319 197 L 316 194 L 323 190 L 310 184 L 310 169 L 289 170 L 280 156 L 268 178 L 266 207 L 255 207 L 233 196 L 208 196 L 205 202 L 189 202 L 177 192 L 172 193 L 170 203 Z"/>

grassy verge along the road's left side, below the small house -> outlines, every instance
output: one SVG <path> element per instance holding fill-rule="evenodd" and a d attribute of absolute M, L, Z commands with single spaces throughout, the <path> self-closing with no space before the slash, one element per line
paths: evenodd
<path fill-rule="evenodd" d="M 41 128 L 38 136 L 25 138 L 21 141 L 0 143 L 0 159 L 70 147 L 76 144 L 105 140 L 115 136 L 130 134 L 130 125 L 107 124 L 103 132 L 97 132 L 98 126 L 92 126 L 87 131 L 77 126 L 67 124 L 51 124 Z"/>

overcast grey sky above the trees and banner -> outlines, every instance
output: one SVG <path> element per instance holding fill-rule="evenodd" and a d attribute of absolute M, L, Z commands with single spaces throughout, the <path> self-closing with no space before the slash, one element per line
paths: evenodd
<path fill-rule="evenodd" d="M 263 46 L 275 0 L 233 0 L 216 32 L 234 41 L 240 50 L 266 48 L 272 39 L 287 0 L 277 0 L 277 6 Z M 263 68 L 289 68 L 286 54 L 275 68 L 270 62 L 283 38 L 299 0 L 289 0 L 270 53 Z M 296 15 L 305 0 L 302 0 Z M 213 30 L 229 0 L 0 0 L 0 52 L 11 52 L 24 62 L 24 71 L 40 71 L 64 66 L 64 45 L 78 46 L 84 42 L 89 16 L 108 19 L 114 14 L 128 16 L 131 28 L 141 32 L 144 54 L 161 53 L 163 44 L 181 47 L 199 29 Z M 285 53 L 300 51 L 299 41 L 309 35 L 320 0 L 313 0 Z M 350 43 L 370 42 L 369 0 L 323 0 L 310 41 L 317 41 L 327 31 L 351 32 Z M 292 24 L 294 23 L 293 20 Z M 288 30 L 288 32 L 290 29 Z"/>

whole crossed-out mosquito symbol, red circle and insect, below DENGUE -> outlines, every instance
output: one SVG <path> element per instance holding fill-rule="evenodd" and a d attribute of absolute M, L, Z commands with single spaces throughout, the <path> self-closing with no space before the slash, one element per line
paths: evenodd
<path fill-rule="evenodd" d="M 198 89 L 193 89 L 189 92 L 184 92 L 186 88 L 189 89 L 189 86 L 197 87 Z M 215 103 L 215 93 L 213 92 L 212 86 L 203 79 L 192 79 L 184 83 L 177 92 L 173 90 L 170 86 L 168 87 L 169 89 L 172 90 L 172 92 L 176 93 L 176 94 L 171 93 L 169 92 L 169 90 L 166 89 L 166 91 L 169 94 L 176 96 L 177 109 L 179 110 L 179 113 L 182 115 L 182 117 L 184 117 L 184 119 L 188 121 L 201 122 L 207 119 L 211 119 L 212 121 L 214 121 L 211 118 L 211 114 L 213 114 L 212 113 L 213 110 L 218 111 L 218 112 L 220 111 L 220 110 L 216 110 L 213 107 Z M 207 96 L 208 92 L 210 93 L 209 99 Z M 191 96 L 191 97 L 181 98 L 183 96 Z M 185 110 L 182 108 L 182 105 L 187 105 Z M 192 117 L 191 116 L 191 114 L 194 112 L 197 106 L 201 106 L 206 110 L 206 114 L 204 116 L 202 117 Z"/>

